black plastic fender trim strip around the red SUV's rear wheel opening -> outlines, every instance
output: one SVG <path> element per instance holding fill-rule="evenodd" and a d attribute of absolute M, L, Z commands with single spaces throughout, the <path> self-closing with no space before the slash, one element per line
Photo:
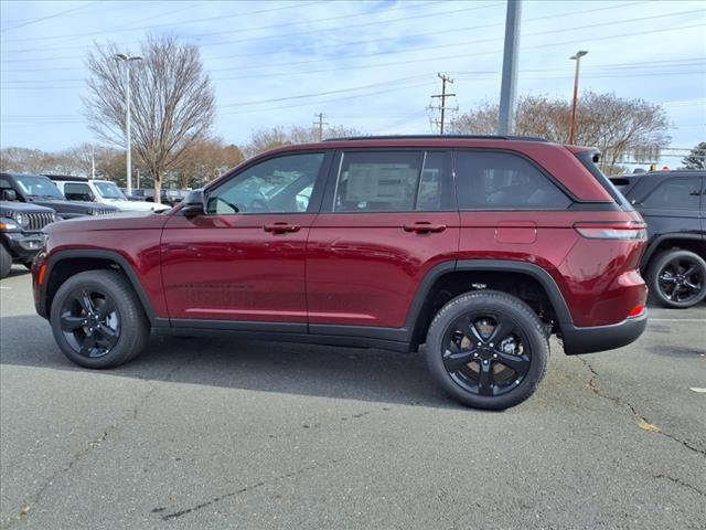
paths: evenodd
<path fill-rule="evenodd" d="M 532 276 L 539 282 L 544 287 L 552 306 L 556 312 L 557 319 L 560 326 L 570 326 L 574 324 L 571 314 L 569 312 L 564 295 L 559 290 L 558 285 L 554 278 L 544 268 L 538 265 L 525 262 L 513 262 L 503 259 L 458 259 L 452 262 L 443 262 L 432 267 L 417 289 L 417 294 L 407 312 L 407 319 L 405 328 L 413 330 L 415 324 L 419 318 L 421 308 L 427 298 L 427 295 L 431 290 L 431 286 L 437 279 L 448 273 L 459 271 L 488 271 L 488 272 L 509 272 L 509 273 L 523 273 Z"/>

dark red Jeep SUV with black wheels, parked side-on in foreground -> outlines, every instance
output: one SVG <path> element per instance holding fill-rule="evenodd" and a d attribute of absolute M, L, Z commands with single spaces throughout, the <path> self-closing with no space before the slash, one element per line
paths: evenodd
<path fill-rule="evenodd" d="M 50 226 L 36 310 L 61 350 L 117 367 L 157 333 L 416 351 L 456 400 L 527 399 L 568 354 L 646 324 L 645 225 L 590 149 L 370 137 L 277 149 L 164 214 Z"/>

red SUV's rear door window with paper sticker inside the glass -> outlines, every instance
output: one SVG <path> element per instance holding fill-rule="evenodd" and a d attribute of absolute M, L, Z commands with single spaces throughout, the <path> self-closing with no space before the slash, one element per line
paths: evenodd
<path fill-rule="evenodd" d="M 445 152 L 349 151 L 342 157 L 335 212 L 451 208 L 452 189 Z"/>

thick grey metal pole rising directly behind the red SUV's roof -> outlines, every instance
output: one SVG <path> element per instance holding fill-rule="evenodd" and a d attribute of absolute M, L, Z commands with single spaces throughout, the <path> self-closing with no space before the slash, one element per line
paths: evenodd
<path fill-rule="evenodd" d="M 507 0 L 503 78 L 500 88 L 499 135 L 510 135 L 515 128 L 515 85 L 517 82 L 517 49 L 520 47 L 520 0 Z"/>

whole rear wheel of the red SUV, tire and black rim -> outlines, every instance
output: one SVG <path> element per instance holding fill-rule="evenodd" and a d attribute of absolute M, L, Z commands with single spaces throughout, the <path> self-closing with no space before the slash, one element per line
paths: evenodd
<path fill-rule="evenodd" d="M 474 409 L 503 410 L 534 393 L 549 342 L 524 301 L 480 290 L 441 308 L 427 333 L 426 356 L 431 377 L 449 396 Z"/>

